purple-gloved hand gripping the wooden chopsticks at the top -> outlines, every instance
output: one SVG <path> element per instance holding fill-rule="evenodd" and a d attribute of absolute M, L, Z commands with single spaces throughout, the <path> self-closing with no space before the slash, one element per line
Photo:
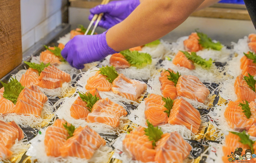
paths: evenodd
<path fill-rule="evenodd" d="M 92 20 L 94 14 L 104 13 L 99 21 L 99 26 L 111 28 L 127 18 L 136 7 L 140 5 L 139 0 L 111 1 L 107 5 L 98 5 L 90 10 L 89 20 Z"/>

